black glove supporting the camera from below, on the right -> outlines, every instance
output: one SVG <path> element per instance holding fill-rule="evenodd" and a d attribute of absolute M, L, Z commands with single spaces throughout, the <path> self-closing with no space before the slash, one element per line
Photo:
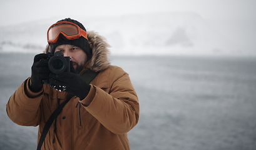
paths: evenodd
<path fill-rule="evenodd" d="M 71 72 L 64 72 L 62 74 L 51 73 L 51 87 L 64 91 L 69 94 L 77 96 L 79 99 L 84 99 L 88 95 L 91 86 L 74 71 L 73 65 L 71 65 Z"/>

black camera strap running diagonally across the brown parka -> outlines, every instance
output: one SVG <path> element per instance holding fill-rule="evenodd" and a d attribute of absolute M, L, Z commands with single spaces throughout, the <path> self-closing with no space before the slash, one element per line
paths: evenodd
<path fill-rule="evenodd" d="M 83 75 L 82 77 L 85 79 L 86 83 L 91 83 L 91 81 L 93 81 L 93 79 L 97 76 L 99 72 L 95 72 L 95 71 L 92 71 L 90 69 L 88 69 Z M 43 143 L 44 143 L 44 139 L 46 138 L 46 134 L 48 133 L 49 131 L 49 128 L 51 127 L 51 124 L 53 124 L 53 121 L 58 117 L 59 113 L 61 112 L 61 110 L 63 109 L 63 107 L 66 105 L 66 103 L 68 103 L 68 101 L 73 98 L 73 95 L 72 94 L 68 94 L 66 100 L 61 103 L 59 105 L 58 108 L 55 109 L 55 111 L 53 112 L 53 114 L 51 114 L 51 116 L 49 117 L 48 121 L 46 122 L 45 126 L 44 126 L 44 129 L 43 129 L 43 132 L 41 134 L 41 137 L 39 139 L 39 142 L 38 142 L 38 148 L 37 150 L 40 150 Z"/>

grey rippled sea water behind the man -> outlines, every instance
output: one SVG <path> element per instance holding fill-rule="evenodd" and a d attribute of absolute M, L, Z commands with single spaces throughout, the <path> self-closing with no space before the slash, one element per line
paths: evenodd
<path fill-rule="evenodd" d="M 0 149 L 36 149 L 38 127 L 6 114 L 33 58 L 0 53 Z M 130 74 L 140 101 L 131 149 L 256 149 L 255 58 L 111 56 L 111 64 Z"/>

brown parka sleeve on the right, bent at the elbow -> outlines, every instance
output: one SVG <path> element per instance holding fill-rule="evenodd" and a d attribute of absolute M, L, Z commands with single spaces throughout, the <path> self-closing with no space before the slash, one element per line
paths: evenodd
<path fill-rule="evenodd" d="M 93 98 L 90 105 L 84 108 L 112 133 L 128 133 L 138 123 L 138 97 L 128 74 L 123 69 L 112 68 L 107 77 L 110 93 L 93 86 L 94 89 L 90 90 L 90 93 L 95 95 L 88 96 L 80 102 L 83 104 Z"/>

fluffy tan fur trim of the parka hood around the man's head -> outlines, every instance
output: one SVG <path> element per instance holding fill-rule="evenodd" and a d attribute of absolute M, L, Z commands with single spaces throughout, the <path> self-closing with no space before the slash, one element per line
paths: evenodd
<path fill-rule="evenodd" d="M 95 31 L 87 31 L 88 42 L 92 49 L 91 59 L 86 63 L 92 71 L 103 71 L 104 69 L 110 66 L 110 51 L 108 47 L 110 45 L 106 42 L 105 37 L 100 36 L 98 32 Z M 49 53 L 50 47 L 47 44 L 46 49 L 43 53 Z"/>

